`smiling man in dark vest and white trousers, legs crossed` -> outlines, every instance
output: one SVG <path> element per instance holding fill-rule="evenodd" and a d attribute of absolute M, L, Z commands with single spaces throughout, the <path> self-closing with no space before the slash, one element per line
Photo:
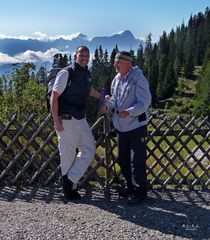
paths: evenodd
<path fill-rule="evenodd" d="M 89 49 L 78 47 L 74 58 L 73 71 L 63 69 L 57 74 L 50 101 L 59 142 L 61 183 L 67 199 L 80 199 L 77 182 L 95 155 L 95 141 L 86 121 L 86 111 L 89 95 L 99 98 L 90 84 Z"/>

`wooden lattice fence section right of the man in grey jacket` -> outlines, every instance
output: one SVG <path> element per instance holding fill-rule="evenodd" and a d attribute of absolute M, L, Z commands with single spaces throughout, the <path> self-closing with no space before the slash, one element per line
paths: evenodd
<path fill-rule="evenodd" d="M 178 116 L 173 122 L 151 118 L 153 130 L 148 137 L 148 179 L 161 186 L 209 186 L 210 124 L 208 118 L 184 122 Z"/>

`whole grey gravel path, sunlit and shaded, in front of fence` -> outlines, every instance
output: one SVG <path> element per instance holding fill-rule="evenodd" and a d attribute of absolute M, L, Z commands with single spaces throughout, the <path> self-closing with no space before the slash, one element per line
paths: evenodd
<path fill-rule="evenodd" d="M 60 188 L 0 188 L 1 240 L 210 239 L 209 191 L 149 192 L 128 206 L 112 191 L 81 190 L 65 202 Z"/>

